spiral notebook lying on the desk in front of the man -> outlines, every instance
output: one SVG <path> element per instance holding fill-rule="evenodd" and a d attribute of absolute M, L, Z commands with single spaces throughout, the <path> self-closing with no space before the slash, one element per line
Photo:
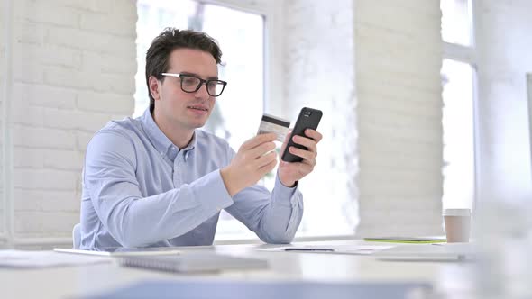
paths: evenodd
<path fill-rule="evenodd" d="M 259 258 L 242 258 L 217 253 L 187 253 L 179 256 L 122 257 L 124 267 L 142 267 L 167 272 L 217 272 L 231 269 L 260 269 L 268 262 Z"/>

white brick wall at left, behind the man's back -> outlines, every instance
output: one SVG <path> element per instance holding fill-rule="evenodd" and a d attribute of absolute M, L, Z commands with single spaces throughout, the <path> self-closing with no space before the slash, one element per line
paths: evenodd
<path fill-rule="evenodd" d="M 69 237 L 88 140 L 133 113 L 136 4 L 14 4 L 15 237 Z"/>

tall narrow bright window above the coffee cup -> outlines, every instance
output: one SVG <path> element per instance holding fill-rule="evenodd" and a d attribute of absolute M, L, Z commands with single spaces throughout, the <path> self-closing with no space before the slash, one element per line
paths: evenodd
<path fill-rule="evenodd" d="M 472 0 L 441 0 L 444 208 L 472 208 L 475 196 L 475 83 Z"/>

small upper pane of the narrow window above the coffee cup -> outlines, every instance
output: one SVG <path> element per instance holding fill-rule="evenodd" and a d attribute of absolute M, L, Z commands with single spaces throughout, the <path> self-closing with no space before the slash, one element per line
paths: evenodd
<path fill-rule="evenodd" d="M 472 46 L 472 0 L 441 0 L 444 41 Z"/>

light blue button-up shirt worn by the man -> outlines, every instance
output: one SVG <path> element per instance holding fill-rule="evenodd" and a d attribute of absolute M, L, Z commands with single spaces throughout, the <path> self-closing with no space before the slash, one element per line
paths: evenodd
<path fill-rule="evenodd" d="M 107 123 L 87 146 L 80 247 L 211 245 L 222 209 L 261 240 L 289 243 L 303 195 L 276 178 L 271 193 L 255 185 L 231 197 L 220 168 L 234 155 L 225 140 L 202 130 L 178 149 L 149 109 Z"/>

